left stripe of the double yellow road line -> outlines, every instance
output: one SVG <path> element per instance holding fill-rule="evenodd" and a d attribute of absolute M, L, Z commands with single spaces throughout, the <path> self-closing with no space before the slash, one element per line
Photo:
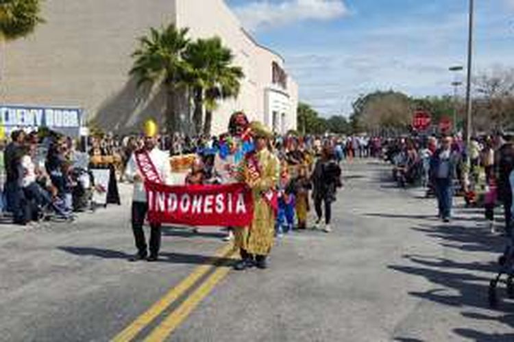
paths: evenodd
<path fill-rule="evenodd" d="M 217 250 L 215 254 L 215 258 L 219 257 L 227 257 L 228 255 L 232 255 L 234 252 L 234 246 L 232 244 L 228 244 L 227 246 L 223 246 L 223 248 Z M 148 324 L 151 323 L 156 317 L 158 317 L 162 311 L 166 310 L 175 300 L 180 298 L 188 289 L 191 289 L 193 285 L 205 274 L 209 272 L 209 270 L 214 267 L 214 265 L 201 265 L 189 274 L 179 285 L 173 287 L 168 293 L 164 295 L 158 302 L 152 305 L 145 313 L 137 317 L 127 328 L 123 329 L 119 334 L 116 335 L 112 339 L 113 342 L 128 342 L 132 341 L 134 337 L 137 336 L 141 330 L 146 328 Z"/>

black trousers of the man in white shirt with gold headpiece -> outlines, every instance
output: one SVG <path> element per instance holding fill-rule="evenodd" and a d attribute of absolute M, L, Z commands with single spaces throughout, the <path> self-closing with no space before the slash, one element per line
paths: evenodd
<path fill-rule="evenodd" d="M 141 257 L 147 257 L 147 242 L 143 224 L 148 211 L 148 204 L 145 202 L 132 202 L 132 231 L 136 240 L 136 248 Z M 160 224 L 150 225 L 150 255 L 157 257 L 160 250 Z"/>

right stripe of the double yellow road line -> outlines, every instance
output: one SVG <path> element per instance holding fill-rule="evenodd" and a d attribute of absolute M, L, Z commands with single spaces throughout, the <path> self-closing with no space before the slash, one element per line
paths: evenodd
<path fill-rule="evenodd" d="M 159 324 L 151 334 L 145 339 L 145 342 L 160 342 L 165 341 L 169 335 L 186 319 L 191 312 L 200 304 L 204 298 L 215 288 L 230 272 L 228 265 L 220 266 L 214 273 L 212 273 L 205 282 L 203 282 L 198 289 L 196 289 L 178 308 L 175 309 L 168 317 L 166 317 L 161 324 Z"/>

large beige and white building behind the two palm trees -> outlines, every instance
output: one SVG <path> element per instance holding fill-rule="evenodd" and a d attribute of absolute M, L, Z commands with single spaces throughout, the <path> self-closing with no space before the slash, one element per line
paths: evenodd
<path fill-rule="evenodd" d="M 137 88 L 128 72 L 136 38 L 175 23 L 189 27 L 191 38 L 220 36 L 245 73 L 238 98 L 215 111 L 213 133 L 225 131 L 238 110 L 277 132 L 296 128 L 298 90 L 284 60 L 255 42 L 223 0 L 46 0 L 42 16 L 47 23 L 34 34 L 5 47 L 3 104 L 80 107 L 120 133 L 138 131 L 148 117 L 162 121 L 164 94 Z M 182 103 L 184 131 L 188 111 Z"/>

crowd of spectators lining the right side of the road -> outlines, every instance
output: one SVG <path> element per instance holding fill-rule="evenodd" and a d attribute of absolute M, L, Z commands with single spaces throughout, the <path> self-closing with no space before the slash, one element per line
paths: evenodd
<path fill-rule="evenodd" d="M 473 137 L 469 148 L 461 135 L 401 137 L 384 141 L 386 159 L 401 187 L 421 185 L 435 195 L 439 216 L 449 222 L 453 197 L 461 195 L 468 206 L 485 208 L 493 233 L 494 209 L 502 205 L 505 233 L 512 230 L 514 145 L 509 134 Z M 469 164 L 468 164 L 469 160 Z"/>

